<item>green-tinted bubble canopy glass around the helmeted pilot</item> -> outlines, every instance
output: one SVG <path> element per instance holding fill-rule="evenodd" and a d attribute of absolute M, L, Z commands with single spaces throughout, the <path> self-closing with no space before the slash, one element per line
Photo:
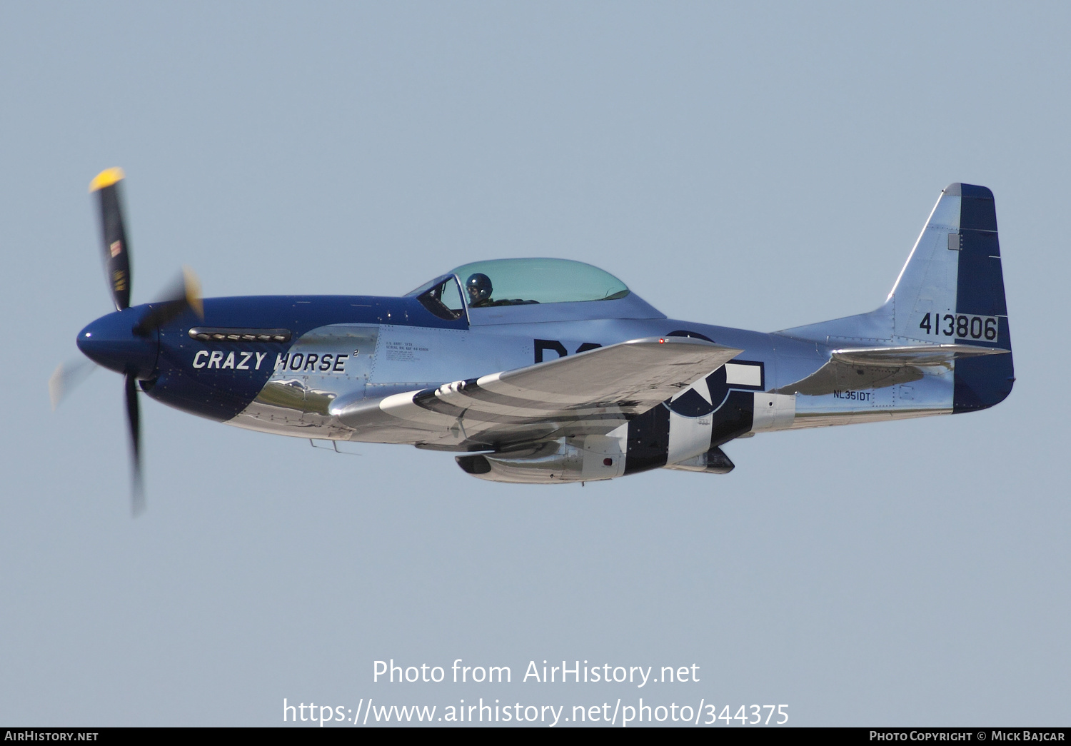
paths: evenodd
<path fill-rule="evenodd" d="M 629 294 L 629 288 L 614 275 L 571 259 L 494 259 L 462 264 L 451 274 L 463 286 L 473 275 L 491 280 L 489 299 L 474 305 L 612 301 Z"/>

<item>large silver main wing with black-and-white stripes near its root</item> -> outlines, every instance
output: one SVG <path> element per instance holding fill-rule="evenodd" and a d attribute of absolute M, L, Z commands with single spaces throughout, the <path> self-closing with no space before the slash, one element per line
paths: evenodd
<path fill-rule="evenodd" d="M 605 435 L 740 352 L 690 337 L 634 339 L 437 389 L 340 401 L 331 414 L 361 440 L 446 450 Z"/>

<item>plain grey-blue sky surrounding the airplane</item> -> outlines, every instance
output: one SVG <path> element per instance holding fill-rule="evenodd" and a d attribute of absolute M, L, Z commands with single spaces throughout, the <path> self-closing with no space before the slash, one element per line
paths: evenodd
<path fill-rule="evenodd" d="M 0 725 L 274 725 L 282 701 L 787 704 L 794 725 L 1068 721 L 1062 3 L 0 4 Z M 1017 382 L 984 413 L 759 436 L 727 476 L 484 483 L 449 455 L 46 380 L 133 295 L 403 293 L 568 257 L 670 317 L 884 301 L 940 189 L 996 196 Z M 488 371 L 491 372 L 491 371 Z M 372 682 L 509 665 L 508 686 Z M 529 660 L 700 682 L 517 681 Z"/>

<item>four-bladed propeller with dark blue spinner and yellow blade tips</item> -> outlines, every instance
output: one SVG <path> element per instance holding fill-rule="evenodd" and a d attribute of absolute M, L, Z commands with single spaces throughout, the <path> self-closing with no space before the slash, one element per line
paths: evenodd
<path fill-rule="evenodd" d="M 120 168 L 101 171 L 89 184 L 96 193 L 101 210 L 101 232 L 104 247 L 104 272 L 117 314 L 97 319 L 82 330 L 78 347 L 94 363 L 123 374 L 126 425 L 131 451 L 131 512 L 145 512 L 145 487 L 141 476 L 141 413 L 138 404 L 138 380 L 152 378 L 159 346 L 157 330 L 190 309 L 203 318 L 200 281 L 188 267 L 172 281 L 160 300 L 145 310 L 131 307 L 130 243 L 123 223 L 119 182 L 124 178 Z M 52 409 L 70 390 L 93 370 L 91 363 L 60 365 L 48 381 Z"/>

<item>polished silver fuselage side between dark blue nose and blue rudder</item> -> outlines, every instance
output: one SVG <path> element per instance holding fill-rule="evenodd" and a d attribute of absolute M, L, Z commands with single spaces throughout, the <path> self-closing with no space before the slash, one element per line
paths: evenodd
<path fill-rule="evenodd" d="M 529 307 L 503 310 L 524 313 Z M 491 309 L 470 310 L 473 322 L 491 315 Z M 558 342 L 569 354 L 576 354 L 586 345 L 608 347 L 681 331 L 741 349 L 739 359 L 763 364 L 764 393 L 775 399 L 778 417 L 775 422 L 759 424 L 756 431 L 952 412 L 953 377 L 949 366 L 933 367 L 922 379 L 893 386 L 846 387 L 816 396 L 782 395 L 774 392 L 817 371 L 829 360 L 830 350 L 841 345 L 664 317 L 540 322 L 508 319 L 503 323 L 472 323 L 464 331 L 394 324 L 332 324 L 313 330 L 290 348 L 287 356 L 273 355 L 277 361 L 270 361 L 276 366 L 271 379 L 256 400 L 228 424 L 300 438 L 426 444 L 427 433 L 423 429 L 411 430 L 401 422 L 366 428 L 344 425 L 332 414 L 332 405 L 379 400 L 557 357 L 558 352 L 546 342 Z M 543 346 L 541 357 L 537 355 L 537 346 Z M 317 356 L 317 362 L 306 369 L 311 354 Z M 325 355 L 336 360 L 340 354 L 347 355 L 343 371 L 319 370 L 319 361 Z M 470 445 L 459 430 L 436 444 L 457 451 Z"/>

